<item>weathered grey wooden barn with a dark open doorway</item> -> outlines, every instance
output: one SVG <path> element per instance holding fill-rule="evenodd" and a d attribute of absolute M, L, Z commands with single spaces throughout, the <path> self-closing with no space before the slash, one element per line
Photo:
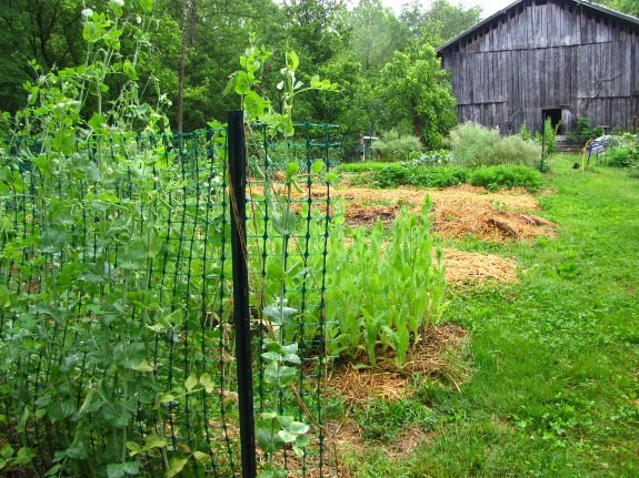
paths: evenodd
<path fill-rule="evenodd" d="M 639 114 L 639 19 L 590 1 L 519 0 L 437 51 L 461 122 L 517 132 L 551 118 L 567 133 Z"/>

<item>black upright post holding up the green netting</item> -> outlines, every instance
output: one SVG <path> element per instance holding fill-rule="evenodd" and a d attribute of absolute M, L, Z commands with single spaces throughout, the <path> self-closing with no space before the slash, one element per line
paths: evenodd
<path fill-rule="evenodd" d="M 233 324 L 238 364 L 242 478 L 257 476 L 253 373 L 251 369 L 251 315 L 247 263 L 247 152 L 243 111 L 229 111 L 228 154 L 233 263 Z"/>

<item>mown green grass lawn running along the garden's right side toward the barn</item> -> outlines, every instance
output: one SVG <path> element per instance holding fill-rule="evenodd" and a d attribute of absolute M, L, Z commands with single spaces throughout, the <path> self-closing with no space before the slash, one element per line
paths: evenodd
<path fill-rule="evenodd" d="M 553 161 L 540 196 L 559 236 L 489 246 L 521 283 L 450 297 L 473 375 L 421 390 L 433 436 L 399 459 L 372 446 L 357 476 L 639 476 L 639 180 L 575 161 Z"/>

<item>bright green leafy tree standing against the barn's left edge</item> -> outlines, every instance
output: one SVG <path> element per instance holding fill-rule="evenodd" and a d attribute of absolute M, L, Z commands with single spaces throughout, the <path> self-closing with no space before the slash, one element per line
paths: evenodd
<path fill-rule="evenodd" d="M 447 73 L 428 44 L 410 53 L 396 52 L 381 71 L 377 94 L 383 100 L 387 128 L 398 123 L 411 128 L 427 149 L 440 148 L 457 122 Z"/>

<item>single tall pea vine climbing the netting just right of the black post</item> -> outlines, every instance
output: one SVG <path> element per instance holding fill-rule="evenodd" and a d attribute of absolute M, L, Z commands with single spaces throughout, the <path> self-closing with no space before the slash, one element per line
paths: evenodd
<path fill-rule="evenodd" d="M 261 411 L 256 421 L 258 444 L 267 457 L 259 478 L 286 477 L 288 470 L 278 468 L 273 461 L 276 454 L 287 444 L 291 444 L 293 451 L 302 457 L 304 456 L 304 447 L 310 443 L 307 436 L 309 426 L 283 414 L 281 405 L 283 393 L 293 387 L 296 377 L 300 375 L 297 367 L 301 366 L 301 358 L 296 340 L 303 338 L 296 335 L 294 332 L 287 333 L 287 330 L 297 330 L 296 322 L 303 321 L 298 308 L 287 305 L 289 302 L 287 297 L 288 286 L 300 277 L 302 282 L 307 281 L 310 274 L 308 264 L 296 262 L 291 266 L 288 264 L 288 258 L 291 238 L 298 225 L 297 215 L 291 209 L 292 191 L 296 189 L 301 193 L 298 180 L 309 177 L 310 181 L 310 177 L 318 176 L 323 170 L 323 163 L 316 161 L 307 174 L 299 175 L 300 165 L 290 161 L 289 152 L 291 136 L 294 133 L 292 119 L 294 98 L 302 92 L 312 90 L 337 90 L 337 84 L 328 80 L 320 80 L 318 75 L 312 77 L 310 83 L 304 85 L 296 77 L 299 58 L 294 51 L 287 50 L 284 54 L 286 65 L 280 70 L 283 79 L 277 85 L 278 90 L 281 91 L 281 110 L 277 112 L 272 102 L 257 91 L 261 82 L 259 75 L 263 71 L 266 61 L 271 57 L 272 52 L 263 47 L 258 48 L 254 35 L 251 37 L 249 48 L 240 57 L 242 70 L 231 74 L 226 91 L 227 93 L 234 91 L 241 96 L 241 106 L 246 112 L 247 123 L 268 124 L 271 134 L 280 133 L 283 136 L 284 144 L 283 192 L 273 189 L 273 184 L 268 180 L 266 172 L 261 171 L 262 166 L 268 170 L 271 163 L 270 157 L 261 157 L 258 164 L 252 164 L 253 172 L 263 181 L 264 213 L 270 214 L 272 231 L 280 237 L 278 247 L 280 263 L 261 263 L 257 266 L 258 269 L 268 271 L 264 283 L 259 284 L 257 288 L 263 294 L 259 304 L 262 305 L 262 323 L 267 324 L 269 332 L 269 336 L 263 338 L 260 358 L 264 363 L 264 383 L 271 387 L 273 397 L 273 401 L 270 404 L 271 410 Z M 250 130 L 248 130 L 248 135 L 250 138 Z M 335 179 L 335 174 L 329 174 L 325 181 L 332 179 Z M 268 232 L 264 233 L 268 234 Z M 256 231 L 256 236 L 258 236 L 258 231 Z"/>

